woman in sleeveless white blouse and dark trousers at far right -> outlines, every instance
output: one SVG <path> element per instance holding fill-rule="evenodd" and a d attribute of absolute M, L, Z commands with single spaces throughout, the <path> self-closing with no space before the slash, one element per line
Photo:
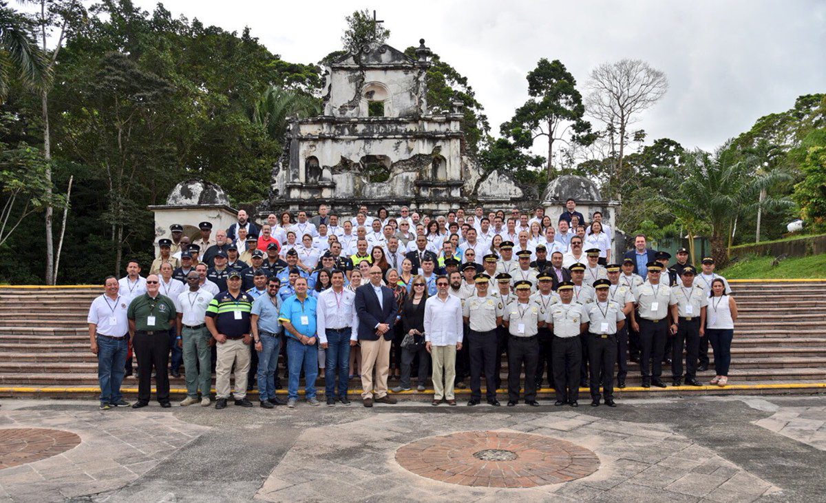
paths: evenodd
<path fill-rule="evenodd" d="M 729 384 L 731 341 L 734 337 L 734 322 L 737 320 L 737 302 L 731 295 L 725 295 L 725 283 L 722 278 L 714 278 L 709 295 L 705 337 L 709 338 L 709 343 L 714 348 L 714 369 L 717 373 L 711 384 L 722 387 Z M 700 336 L 702 335 L 703 329 L 700 328 Z"/>

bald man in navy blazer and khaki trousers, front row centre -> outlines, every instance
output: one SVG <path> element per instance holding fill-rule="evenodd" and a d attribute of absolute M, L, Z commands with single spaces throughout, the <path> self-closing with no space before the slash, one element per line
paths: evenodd
<path fill-rule="evenodd" d="M 373 401 L 395 404 L 396 399 L 387 395 L 387 371 L 390 368 L 390 346 L 393 325 L 396 323 L 398 304 L 392 290 L 382 286 L 382 269 L 370 268 L 370 282 L 356 289 L 354 300 L 358 314 L 358 342 L 362 352 L 362 400 L 365 407 L 373 407 Z M 373 397 L 373 370 L 376 371 Z"/>

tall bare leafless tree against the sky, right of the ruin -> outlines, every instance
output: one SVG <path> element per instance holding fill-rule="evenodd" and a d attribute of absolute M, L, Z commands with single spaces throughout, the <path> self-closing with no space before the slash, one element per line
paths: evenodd
<path fill-rule="evenodd" d="M 645 61 L 624 59 L 591 70 L 586 88 L 586 113 L 605 123 L 615 151 L 616 177 L 622 170 L 626 143 L 631 139 L 629 124 L 662 98 L 668 90 L 668 79 Z"/>

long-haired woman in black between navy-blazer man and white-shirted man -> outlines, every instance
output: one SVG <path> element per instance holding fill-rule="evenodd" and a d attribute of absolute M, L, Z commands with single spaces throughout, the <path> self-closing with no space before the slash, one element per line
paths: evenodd
<path fill-rule="evenodd" d="M 394 393 L 411 389 L 411 367 L 416 356 L 419 357 L 419 391 L 425 390 L 430 355 L 425 349 L 425 300 L 427 300 L 427 282 L 420 275 L 413 279 L 413 290 L 401 305 L 401 333 L 410 335 L 412 344 L 401 348 L 401 382 L 392 389 Z"/>

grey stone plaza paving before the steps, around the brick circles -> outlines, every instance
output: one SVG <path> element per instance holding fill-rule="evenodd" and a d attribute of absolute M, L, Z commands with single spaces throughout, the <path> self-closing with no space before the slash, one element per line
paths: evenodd
<path fill-rule="evenodd" d="M 0 501 L 823 501 L 826 490 L 819 396 L 629 399 L 617 409 L 577 410 L 301 402 L 295 410 L 102 412 L 95 405 L 2 404 L 0 435 L 54 429 L 80 443 L 0 469 Z M 486 470 L 491 486 L 480 487 L 402 467 L 410 465 L 400 458 L 402 446 L 462 432 L 570 443 L 596 457 L 596 471 L 509 488 L 496 479 L 507 478 L 504 468 Z M 526 456 L 525 469 L 538 474 L 557 458 L 532 471 Z M 4 450 L 0 462 L 9 459 Z"/>

